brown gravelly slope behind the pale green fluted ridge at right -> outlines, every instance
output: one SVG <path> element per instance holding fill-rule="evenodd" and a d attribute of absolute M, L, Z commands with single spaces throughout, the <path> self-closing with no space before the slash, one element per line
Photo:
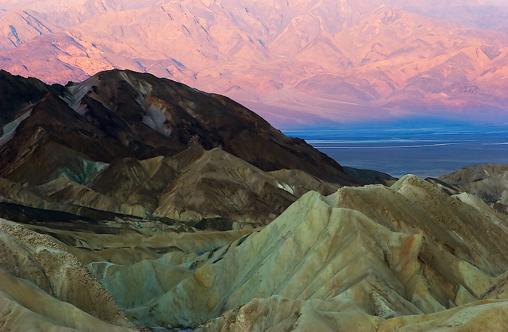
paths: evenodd
<path fill-rule="evenodd" d="M 327 202 L 361 211 L 392 231 L 424 234 L 440 251 L 466 260 L 488 275 L 508 269 L 506 218 L 495 213 L 486 216 L 416 176 L 406 175 L 390 188 L 343 187 Z"/>

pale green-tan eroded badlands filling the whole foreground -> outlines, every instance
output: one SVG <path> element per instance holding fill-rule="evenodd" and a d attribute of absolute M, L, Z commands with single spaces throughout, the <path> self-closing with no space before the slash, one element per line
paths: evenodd
<path fill-rule="evenodd" d="M 2 221 L 10 248 L 2 278 L 19 289 L 14 296 L 4 287 L 5 301 L 20 307 L 18 316 L 3 313 L 4 327 L 34 320 L 78 330 L 129 327 L 114 305 L 99 314 L 88 295 L 72 302 L 69 286 L 110 294 L 135 326 L 384 332 L 503 331 L 508 323 L 508 220 L 415 176 L 391 187 L 311 191 L 252 230 L 202 231 L 119 216 L 85 225 Z M 67 263 L 49 265 L 51 255 Z M 33 284 L 27 288 L 21 278 Z M 52 298 L 51 306 L 19 299 L 29 291 Z M 57 314 L 58 301 L 96 318 Z"/>

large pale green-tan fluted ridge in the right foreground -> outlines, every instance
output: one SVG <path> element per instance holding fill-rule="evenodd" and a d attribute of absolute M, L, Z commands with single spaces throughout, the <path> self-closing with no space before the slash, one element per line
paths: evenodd
<path fill-rule="evenodd" d="M 89 267 L 141 325 L 501 331 L 508 220 L 482 208 L 406 176 L 309 192 L 262 230 L 230 231 L 226 245 L 188 233 L 187 244 L 214 245 L 189 251 L 175 238 L 180 250 L 156 259 Z"/>

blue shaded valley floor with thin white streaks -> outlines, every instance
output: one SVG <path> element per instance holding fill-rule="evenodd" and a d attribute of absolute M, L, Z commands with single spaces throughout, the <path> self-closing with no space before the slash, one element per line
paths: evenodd
<path fill-rule="evenodd" d="M 439 177 L 482 163 L 508 164 L 508 124 L 421 122 L 283 131 L 338 163 L 395 177 Z"/>

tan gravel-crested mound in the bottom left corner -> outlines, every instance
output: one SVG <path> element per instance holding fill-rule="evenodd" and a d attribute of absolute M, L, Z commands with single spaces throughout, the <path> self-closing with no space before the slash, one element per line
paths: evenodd
<path fill-rule="evenodd" d="M 2 329 L 134 327 L 102 284 L 50 236 L 0 220 L 0 247 Z"/>

